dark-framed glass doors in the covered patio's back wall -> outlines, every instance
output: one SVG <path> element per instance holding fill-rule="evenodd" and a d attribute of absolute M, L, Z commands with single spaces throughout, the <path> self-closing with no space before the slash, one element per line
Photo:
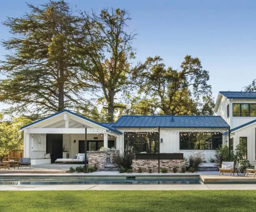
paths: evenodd
<path fill-rule="evenodd" d="M 78 153 L 85 153 L 84 151 L 84 140 L 78 141 Z M 87 151 L 97 151 L 101 147 L 104 146 L 103 140 L 87 140 Z M 108 140 L 107 141 L 107 147 L 115 147 L 115 141 L 114 140 Z"/>

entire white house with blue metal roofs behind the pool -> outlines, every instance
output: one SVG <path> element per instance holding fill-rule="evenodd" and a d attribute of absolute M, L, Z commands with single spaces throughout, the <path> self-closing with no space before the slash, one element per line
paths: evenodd
<path fill-rule="evenodd" d="M 219 92 L 215 105 L 218 116 L 121 116 L 115 123 L 98 123 L 68 110 L 28 124 L 24 130 L 24 156 L 33 164 L 54 163 L 101 147 L 120 152 L 183 153 L 202 152 L 206 160 L 214 158 L 215 148 L 239 142 L 248 147 L 244 159 L 256 164 L 256 92 Z M 158 146 L 160 128 L 160 147 Z M 40 160 L 50 153 L 51 160 Z"/>

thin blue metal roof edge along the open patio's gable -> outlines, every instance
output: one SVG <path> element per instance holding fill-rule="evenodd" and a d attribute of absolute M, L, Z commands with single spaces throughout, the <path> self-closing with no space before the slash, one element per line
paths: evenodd
<path fill-rule="evenodd" d="M 90 121 L 90 122 L 92 122 L 92 123 L 94 123 L 94 124 L 98 124 L 99 126 L 102 126 L 103 128 L 107 128 L 108 130 L 110 130 L 110 131 L 112 131 L 112 132 L 116 132 L 116 133 L 121 134 L 121 135 L 123 134 L 122 132 L 120 132 L 120 131 L 118 131 L 118 130 L 116 130 L 116 129 L 114 129 L 114 128 L 111 128 L 111 127 L 109 127 L 109 126 L 106 126 L 106 125 L 104 125 L 104 124 L 101 124 L 101 123 L 99 123 L 99 122 L 97 122 L 97 121 L 91 120 L 91 119 L 89 119 L 89 118 L 87 118 L 87 117 L 85 117 L 85 116 L 81 116 L 81 115 L 79 115 L 79 114 L 77 114 L 77 113 L 75 113 L 75 112 L 71 112 L 71 111 L 69 111 L 69 110 L 62 110 L 62 111 L 60 111 L 60 112 L 56 112 L 56 113 L 54 113 L 54 114 L 52 114 L 52 115 L 50 115 L 50 116 L 47 116 L 47 117 L 45 117 L 45 118 L 43 118 L 43 119 L 40 119 L 40 120 L 34 121 L 34 122 L 30 123 L 30 124 L 27 124 L 27 125 L 21 127 L 21 129 L 24 129 L 24 128 L 26 128 L 26 127 L 29 127 L 29 126 L 31 126 L 31 125 L 33 125 L 33 124 L 36 124 L 36 123 L 38 123 L 38 122 L 41 122 L 41 121 L 43 121 L 43 120 L 49 119 L 49 118 L 51 118 L 51 117 L 53 117 L 53 116 L 57 116 L 58 114 L 63 113 L 63 112 L 68 112 L 68 113 L 70 113 L 70 114 L 72 114 L 72 115 L 74 115 L 74 116 L 78 116 L 78 117 L 80 117 L 80 118 L 82 118 L 82 119 L 84 119 L 84 120 Z"/>

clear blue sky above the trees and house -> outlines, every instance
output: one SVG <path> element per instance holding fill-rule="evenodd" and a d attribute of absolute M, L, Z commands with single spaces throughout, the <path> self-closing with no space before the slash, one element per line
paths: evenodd
<path fill-rule="evenodd" d="M 27 0 L 40 4 L 46 0 Z M 255 0 L 67 0 L 70 6 L 99 12 L 102 8 L 130 11 L 131 30 L 137 39 L 136 60 L 161 56 L 166 66 L 180 68 L 189 54 L 198 57 L 210 72 L 213 96 L 219 91 L 240 91 L 256 79 Z M 0 20 L 29 12 L 25 1 L 1 1 Z M 2 39 L 8 28 L 0 25 Z M 0 59 L 5 53 L 0 47 Z M 0 109 L 8 107 L 0 104 Z"/>

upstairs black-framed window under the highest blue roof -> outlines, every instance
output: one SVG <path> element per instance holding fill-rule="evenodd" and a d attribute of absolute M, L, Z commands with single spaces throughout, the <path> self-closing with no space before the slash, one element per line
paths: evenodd
<path fill-rule="evenodd" d="M 255 117 L 256 116 L 256 104 L 234 103 L 233 104 L 233 116 Z"/>

